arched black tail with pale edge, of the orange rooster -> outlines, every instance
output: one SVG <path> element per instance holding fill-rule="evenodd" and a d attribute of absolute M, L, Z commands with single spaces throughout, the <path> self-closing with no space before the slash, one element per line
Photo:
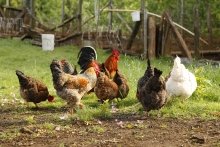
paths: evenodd
<path fill-rule="evenodd" d="M 79 58 L 77 63 L 80 65 L 80 68 L 84 69 L 88 62 L 97 60 L 96 50 L 91 46 L 82 47 L 77 55 L 77 58 Z"/>

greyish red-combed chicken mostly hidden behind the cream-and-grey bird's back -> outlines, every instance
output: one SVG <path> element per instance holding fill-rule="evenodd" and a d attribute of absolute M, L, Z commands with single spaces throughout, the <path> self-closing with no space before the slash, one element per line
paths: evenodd
<path fill-rule="evenodd" d="M 67 62 L 65 59 L 61 60 L 62 63 L 62 71 L 67 73 L 67 74 L 71 74 L 71 75 L 77 75 L 78 71 L 76 70 L 76 66 L 74 66 L 74 69 L 72 67 L 72 65 Z"/>

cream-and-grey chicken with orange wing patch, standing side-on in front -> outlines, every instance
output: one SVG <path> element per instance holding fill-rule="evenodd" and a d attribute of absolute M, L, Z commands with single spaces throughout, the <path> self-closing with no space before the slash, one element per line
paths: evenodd
<path fill-rule="evenodd" d="M 57 95 L 67 101 L 70 114 L 72 115 L 73 108 L 84 106 L 80 100 L 95 86 L 99 71 L 94 67 L 90 67 L 84 73 L 70 75 L 63 72 L 61 67 L 62 64 L 58 60 L 53 60 L 50 64 L 53 86 Z"/>

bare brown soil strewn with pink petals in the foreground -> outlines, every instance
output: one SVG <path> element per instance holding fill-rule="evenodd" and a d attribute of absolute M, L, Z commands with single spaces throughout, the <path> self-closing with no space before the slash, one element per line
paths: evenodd
<path fill-rule="evenodd" d="M 1 106 L 0 147 L 220 146 L 219 120 L 114 113 L 109 119 L 80 121 L 74 117 L 64 119 L 67 112 Z"/>

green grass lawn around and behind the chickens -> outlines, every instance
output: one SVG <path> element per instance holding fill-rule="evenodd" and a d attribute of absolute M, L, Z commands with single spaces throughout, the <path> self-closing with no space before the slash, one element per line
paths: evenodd
<path fill-rule="evenodd" d="M 19 95 L 19 83 L 15 70 L 21 70 L 25 74 L 35 77 L 45 83 L 52 95 L 55 96 L 55 102 L 42 102 L 41 106 L 47 108 L 57 108 L 65 105 L 65 101 L 56 96 L 53 88 L 52 76 L 50 71 L 50 63 L 53 59 L 66 59 L 73 65 L 77 65 L 78 48 L 75 46 L 56 47 L 54 51 L 43 51 L 41 47 L 32 46 L 31 42 L 21 42 L 20 40 L 0 39 L 0 105 L 6 107 L 8 103 L 16 103 L 20 109 L 18 112 L 23 112 L 22 108 L 26 108 L 26 103 Z M 97 50 L 98 61 L 103 62 L 108 56 L 109 52 Z M 163 71 L 165 77 L 172 69 L 173 61 L 169 56 L 161 57 L 159 59 L 152 59 L 153 67 Z M 194 94 L 184 103 L 179 99 L 173 102 L 169 100 L 168 104 L 161 110 L 161 116 L 171 118 L 192 118 L 197 117 L 201 119 L 219 119 L 220 111 L 220 69 L 213 68 L 211 65 L 198 66 L 196 62 L 192 65 L 185 64 L 186 67 L 196 75 L 198 87 Z M 131 113 L 133 111 L 141 112 L 142 106 L 137 105 L 130 107 L 138 102 L 136 99 L 136 84 L 138 79 L 143 75 L 147 66 L 146 60 L 140 60 L 137 57 L 130 57 L 121 55 L 119 60 L 119 70 L 124 73 L 129 81 L 130 92 L 127 98 L 120 100 L 113 100 L 113 103 L 119 112 Z M 79 66 L 77 67 L 79 70 Z M 76 116 L 82 120 L 94 120 L 99 118 L 111 117 L 110 106 L 108 104 L 100 105 L 97 102 L 95 94 L 86 95 L 82 99 L 82 103 L 86 105 L 85 109 L 78 109 Z M 34 107 L 30 103 L 30 107 Z M 17 114 L 17 113 L 16 113 Z M 151 115 L 157 115 L 157 111 L 151 111 Z M 218 115 L 217 115 L 218 114 Z M 59 118 L 59 116 L 54 116 Z M 31 118 L 26 118 L 29 123 Z"/>

